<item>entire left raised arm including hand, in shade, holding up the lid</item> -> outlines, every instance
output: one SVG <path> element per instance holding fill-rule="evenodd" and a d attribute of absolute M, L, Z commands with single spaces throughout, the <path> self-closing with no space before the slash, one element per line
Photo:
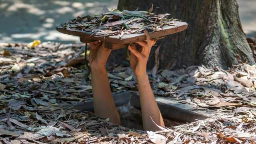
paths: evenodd
<path fill-rule="evenodd" d="M 97 41 L 89 44 L 94 113 L 109 118 L 109 122 L 121 124 L 105 68 L 111 50 L 104 47 L 104 42 Z"/>

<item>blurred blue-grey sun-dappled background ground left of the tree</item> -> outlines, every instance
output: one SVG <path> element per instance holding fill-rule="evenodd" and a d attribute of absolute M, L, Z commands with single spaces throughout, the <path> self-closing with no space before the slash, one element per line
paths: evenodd
<path fill-rule="evenodd" d="M 60 34 L 54 26 L 70 18 L 101 14 L 104 5 L 116 9 L 118 0 L 0 0 L 0 42 L 80 42 L 76 36 Z"/>

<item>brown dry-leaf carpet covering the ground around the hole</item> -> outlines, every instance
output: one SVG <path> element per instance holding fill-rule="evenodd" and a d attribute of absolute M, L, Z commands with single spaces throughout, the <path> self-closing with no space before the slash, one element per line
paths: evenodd
<path fill-rule="evenodd" d="M 256 144 L 255 65 L 148 71 L 155 96 L 214 111 L 206 120 L 149 132 L 69 107 L 92 99 L 84 44 L 0 43 L 0 49 L 0 143 Z M 130 67 L 116 64 L 108 73 L 113 94 L 138 93 Z"/>

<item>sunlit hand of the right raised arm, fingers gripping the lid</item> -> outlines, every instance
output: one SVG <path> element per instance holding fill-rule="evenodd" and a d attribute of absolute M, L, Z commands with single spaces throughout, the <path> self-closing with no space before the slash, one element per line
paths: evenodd
<path fill-rule="evenodd" d="M 150 48 L 148 47 L 148 41 L 136 42 L 141 47 L 136 50 L 136 46 L 129 46 L 130 65 L 134 71 L 135 76 L 142 76 L 146 74 L 146 67 L 148 62 L 148 56 L 150 54 L 151 47 L 156 43 L 156 40 L 150 39 Z"/>

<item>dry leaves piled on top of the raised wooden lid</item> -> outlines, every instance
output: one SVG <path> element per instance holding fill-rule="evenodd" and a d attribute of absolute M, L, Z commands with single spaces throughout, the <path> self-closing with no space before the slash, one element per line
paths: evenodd
<path fill-rule="evenodd" d="M 102 9 L 102 14 L 87 15 L 70 19 L 68 23 L 62 23 L 57 28 L 64 28 L 77 32 L 92 32 L 92 35 L 111 36 L 116 35 L 120 38 L 124 34 L 136 34 L 144 30 L 159 31 L 163 30 L 163 25 L 174 26 L 175 20 L 168 19 L 170 14 L 152 13 L 152 7 L 148 11 L 128 11 L 122 12 L 108 10 L 106 6 Z"/>

